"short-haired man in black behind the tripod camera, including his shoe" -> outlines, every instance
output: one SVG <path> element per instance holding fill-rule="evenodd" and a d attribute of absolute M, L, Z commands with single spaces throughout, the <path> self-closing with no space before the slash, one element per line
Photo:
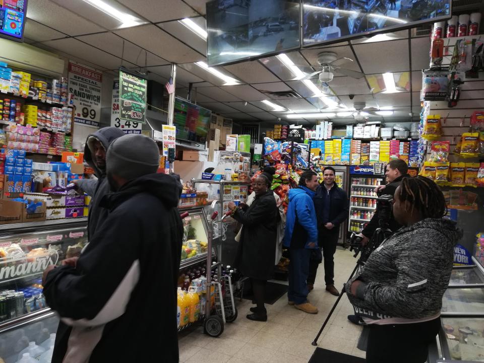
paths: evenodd
<path fill-rule="evenodd" d="M 378 196 L 380 197 L 383 194 L 393 196 L 397 188 L 402 183 L 402 179 L 404 177 L 409 176 L 407 174 L 407 171 L 408 171 L 408 165 L 405 161 L 400 159 L 391 160 L 387 164 L 387 168 L 385 171 L 385 179 L 387 184 L 376 188 Z M 365 246 L 368 243 L 368 241 L 370 240 L 370 238 L 372 238 L 377 228 L 380 227 L 380 220 L 382 219 L 385 220 L 385 222 L 388 221 L 387 226 L 392 232 L 396 232 L 402 226 L 400 223 L 398 223 L 395 220 L 392 210 L 390 210 L 388 215 L 388 208 L 380 208 L 380 205 L 378 205 L 373 218 L 370 220 L 367 226 L 361 231 L 361 233 L 358 234 L 358 236 L 362 237 L 361 244 L 363 246 Z M 365 322 L 360 318 L 359 315 L 348 315 L 348 320 L 351 323 L 356 325 L 365 325 Z"/>

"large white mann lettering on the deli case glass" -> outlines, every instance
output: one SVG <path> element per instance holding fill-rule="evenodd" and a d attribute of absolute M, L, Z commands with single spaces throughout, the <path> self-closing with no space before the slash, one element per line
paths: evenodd
<path fill-rule="evenodd" d="M 8 282 L 19 278 L 38 275 L 49 265 L 56 265 L 59 256 L 56 251 L 45 257 L 37 257 L 28 261 L 25 257 L 9 260 L 9 266 L 0 268 L 0 281 Z M 19 263 L 20 262 L 20 263 Z"/>

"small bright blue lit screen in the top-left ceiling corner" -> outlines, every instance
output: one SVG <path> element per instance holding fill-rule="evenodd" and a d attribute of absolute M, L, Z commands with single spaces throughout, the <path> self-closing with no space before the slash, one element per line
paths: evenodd
<path fill-rule="evenodd" d="M 22 41 L 27 0 L 0 0 L 0 37 Z"/>

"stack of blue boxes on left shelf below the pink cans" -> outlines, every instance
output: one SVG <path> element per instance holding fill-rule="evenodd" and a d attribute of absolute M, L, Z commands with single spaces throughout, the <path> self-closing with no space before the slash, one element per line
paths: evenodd
<path fill-rule="evenodd" d="M 7 150 L 5 175 L 8 193 L 28 193 L 32 188 L 32 160 L 25 158 L 23 150 Z"/>

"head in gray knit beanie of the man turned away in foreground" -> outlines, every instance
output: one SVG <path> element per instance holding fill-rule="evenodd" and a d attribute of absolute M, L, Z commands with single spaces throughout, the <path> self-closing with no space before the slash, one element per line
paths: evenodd
<path fill-rule="evenodd" d="M 128 181 L 153 174 L 159 167 L 159 149 L 144 136 L 128 134 L 114 140 L 107 150 L 107 177 L 113 190 Z"/>

